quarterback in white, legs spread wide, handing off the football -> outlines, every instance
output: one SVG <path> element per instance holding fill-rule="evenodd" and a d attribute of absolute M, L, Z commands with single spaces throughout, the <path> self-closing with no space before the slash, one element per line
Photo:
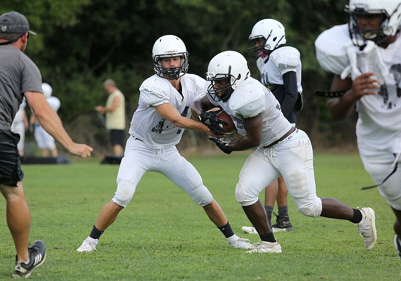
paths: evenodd
<path fill-rule="evenodd" d="M 147 171 L 164 174 L 202 206 L 231 247 L 252 248 L 248 239 L 234 233 L 200 174 L 175 147 L 184 129 L 202 130 L 213 135 L 208 126 L 190 119 L 191 104 L 205 94 L 205 79 L 187 73 L 188 52 L 177 36 L 158 38 L 153 45 L 152 57 L 155 74 L 139 87 L 139 106 L 132 116 L 130 137 L 118 170 L 117 191 L 103 206 L 92 232 L 77 251 L 96 250 L 100 235 L 130 202 L 136 185 Z M 217 135 L 222 133 L 217 132 Z"/>

